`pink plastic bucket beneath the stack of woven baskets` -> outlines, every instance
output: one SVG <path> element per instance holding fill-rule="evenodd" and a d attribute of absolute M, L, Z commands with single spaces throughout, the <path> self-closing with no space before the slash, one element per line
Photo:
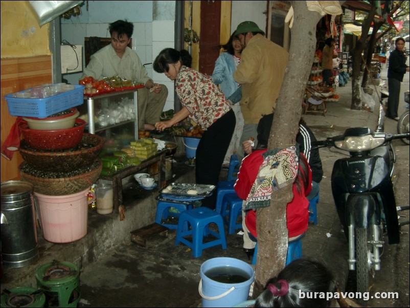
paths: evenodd
<path fill-rule="evenodd" d="M 71 243 L 87 234 L 88 191 L 89 188 L 63 196 L 34 192 L 44 239 Z"/>

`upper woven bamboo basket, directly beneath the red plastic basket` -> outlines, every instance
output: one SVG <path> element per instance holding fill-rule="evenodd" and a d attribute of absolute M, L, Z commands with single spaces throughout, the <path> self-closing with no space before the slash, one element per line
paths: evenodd
<path fill-rule="evenodd" d="M 20 153 L 22 158 L 33 167 L 43 171 L 68 172 L 92 164 L 101 152 L 104 140 L 92 134 L 84 133 L 80 144 L 67 150 L 36 150 L 22 140 Z"/>

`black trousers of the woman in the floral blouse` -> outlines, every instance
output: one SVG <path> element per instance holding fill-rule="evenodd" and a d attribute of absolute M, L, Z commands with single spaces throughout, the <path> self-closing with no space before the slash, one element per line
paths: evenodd
<path fill-rule="evenodd" d="M 236 125 L 231 109 L 203 133 L 196 149 L 195 177 L 197 184 L 217 185 L 223 159 Z M 216 192 L 202 200 L 202 206 L 215 209 Z"/>

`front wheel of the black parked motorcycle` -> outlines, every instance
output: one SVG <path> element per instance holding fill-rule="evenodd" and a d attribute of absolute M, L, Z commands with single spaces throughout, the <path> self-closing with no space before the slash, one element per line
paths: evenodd
<path fill-rule="evenodd" d="M 356 291 L 364 294 L 369 291 L 369 250 L 368 229 L 356 228 Z"/>

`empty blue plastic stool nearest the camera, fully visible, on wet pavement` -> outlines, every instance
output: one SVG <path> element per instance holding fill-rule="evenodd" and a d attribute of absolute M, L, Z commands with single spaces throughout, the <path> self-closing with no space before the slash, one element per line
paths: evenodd
<path fill-rule="evenodd" d="M 216 224 L 219 233 L 209 229 L 211 223 Z M 189 228 L 189 225 L 191 228 Z M 203 243 L 203 237 L 208 235 L 213 235 L 216 239 Z M 192 242 L 184 238 L 185 236 L 192 236 Z M 179 215 L 178 228 L 176 229 L 175 246 L 178 246 L 179 243 L 190 247 L 195 258 L 202 255 L 203 249 L 216 245 L 222 245 L 222 249 L 226 249 L 222 216 L 207 207 L 182 212 Z"/>

